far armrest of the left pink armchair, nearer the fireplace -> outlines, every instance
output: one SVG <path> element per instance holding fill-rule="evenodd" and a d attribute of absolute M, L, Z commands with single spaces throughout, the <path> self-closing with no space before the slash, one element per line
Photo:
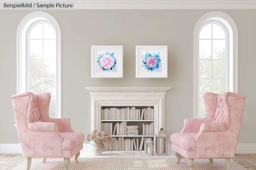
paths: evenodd
<path fill-rule="evenodd" d="M 70 119 L 67 119 L 67 118 L 49 118 L 48 121 L 56 123 L 59 132 L 75 132 L 71 128 Z"/>

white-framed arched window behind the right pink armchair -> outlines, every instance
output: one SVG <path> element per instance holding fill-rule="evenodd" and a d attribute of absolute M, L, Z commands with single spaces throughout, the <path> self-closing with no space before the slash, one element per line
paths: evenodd
<path fill-rule="evenodd" d="M 207 13 L 196 24 L 194 44 L 194 116 L 204 118 L 204 93 L 237 93 L 236 24 L 225 13 Z"/>

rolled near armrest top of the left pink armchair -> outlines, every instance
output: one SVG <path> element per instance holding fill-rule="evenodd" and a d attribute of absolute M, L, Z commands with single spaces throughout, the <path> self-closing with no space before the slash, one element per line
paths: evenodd
<path fill-rule="evenodd" d="M 28 124 L 28 127 L 31 131 L 58 131 L 56 123 L 52 122 L 31 122 Z"/>

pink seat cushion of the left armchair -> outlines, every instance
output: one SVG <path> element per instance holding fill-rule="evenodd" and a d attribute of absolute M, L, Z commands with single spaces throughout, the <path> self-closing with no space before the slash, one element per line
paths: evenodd
<path fill-rule="evenodd" d="M 63 139 L 63 150 L 72 150 L 84 141 L 84 135 L 78 132 L 60 132 L 60 136 Z"/>

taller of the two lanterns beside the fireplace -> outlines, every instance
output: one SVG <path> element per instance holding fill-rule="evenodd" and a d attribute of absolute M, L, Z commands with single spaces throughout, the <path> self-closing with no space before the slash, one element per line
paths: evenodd
<path fill-rule="evenodd" d="M 168 136 L 165 134 L 165 131 L 163 131 L 163 128 L 160 128 L 160 131 L 155 137 L 157 138 L 157 155 L 168 155 Z"/>

